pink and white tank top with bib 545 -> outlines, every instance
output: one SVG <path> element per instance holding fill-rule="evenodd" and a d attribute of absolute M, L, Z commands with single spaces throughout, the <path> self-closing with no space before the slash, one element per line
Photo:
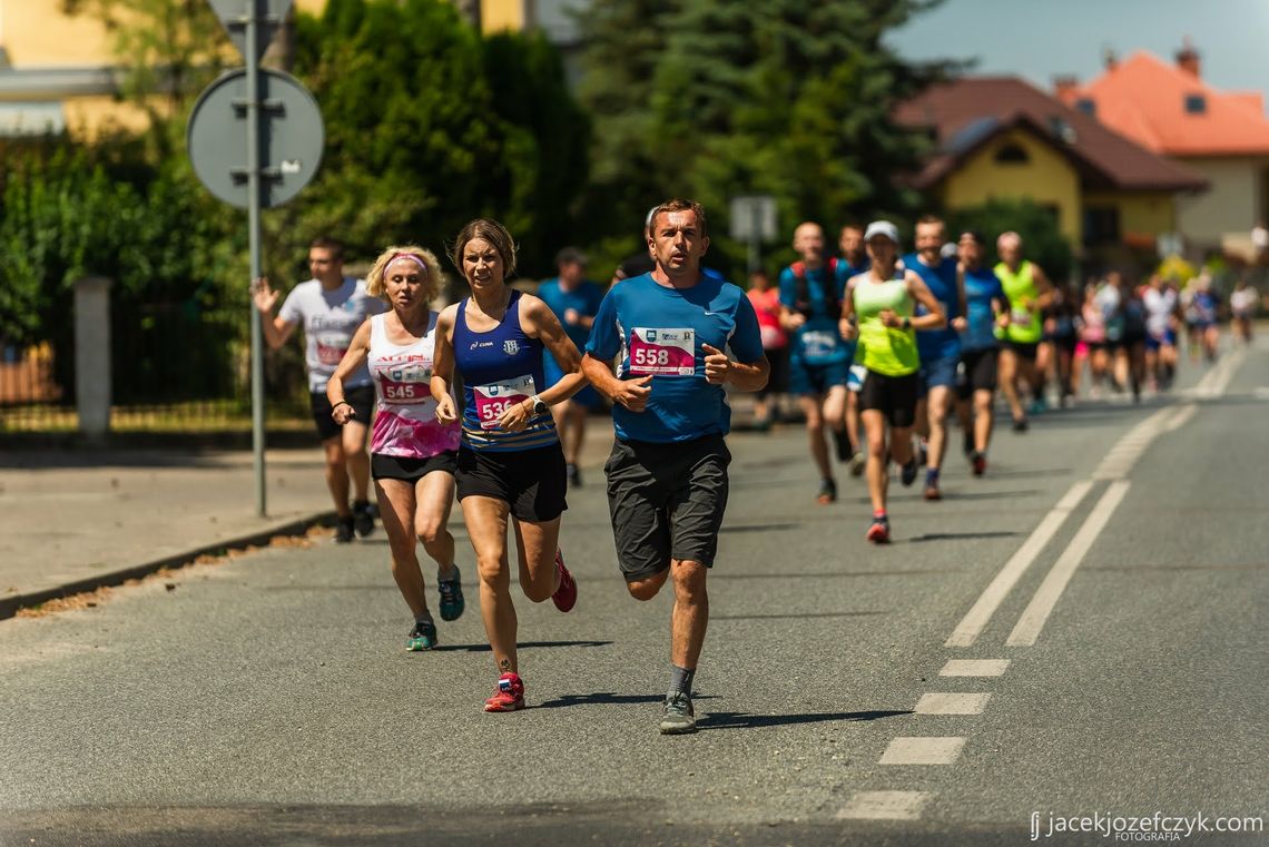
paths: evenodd
<path fill-rule="evenodd" d="M 367 364 L 374 379 L 376 413 L 371 434 L 371 453 L 410 459 L 426 459 L 458 449 L 462 432 L 458 422 L 437 421 L 437 402 L 431 399 L 433 352 L 437 317 L 428 317 L 428 331 L 414 344 L 388 341 L 383 321 L 371 318 L 371 354 Z"/>

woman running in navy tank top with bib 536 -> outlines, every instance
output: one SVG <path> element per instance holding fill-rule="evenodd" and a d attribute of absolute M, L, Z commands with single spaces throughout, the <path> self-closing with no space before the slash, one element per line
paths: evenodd
<path fill-rule="evenodd" d="M 551 407 L 576 393 L 584 378 L 577 349 L 546 303 L 506 285 L 515 273 L 515 242 L 501 223 L 477 218 L 464 226 L 450 257 L 472 295 L 440 313 L 431 397 L 437 420 L 457 420 L 449 384 L 454 370 L 462 375 L 458 503 L 476 550 L 480 611 L 500 673 L 485 711 L 515 711 L 524 708 L 524 681 L 506 529 L 515 529 L 524 596 L 533 602 L 551 597 L 560 611 L 571 610 L 577 585 L 558 546 L 569 483 Z M 539 392 L 543 347 L 566 375 Z"/>

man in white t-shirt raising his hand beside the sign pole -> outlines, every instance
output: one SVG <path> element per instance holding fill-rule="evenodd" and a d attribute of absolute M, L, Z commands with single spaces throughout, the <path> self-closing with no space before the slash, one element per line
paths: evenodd
<path fill-rule="evenodd" d="M 273 317 L 273 307 L 278 292 L 269 288 L 268 279 L 255 281 L 251 299 L 260 311 L 264 340 L 273 350 L 287 342 L 297 325 L 305 325 L 308 397 L 317 436 L 326 451 L 326 487 L 335 501 L 335 540 L 346 544 L 353 540 L 354 530 L 360 536 L 374 530 L 369 502 L 371 459 L 365 454 L 374 385 L 365 368 L 349 374 L 344 398 L 357 416 L 340 430 L 330 416 L 326 380 L 335 373 L 358 327 L 387 306 L 365 293 L 364 281 L 344 276 L 344 245 L 334 238 L 316 238 L 308 246 L 308 270 L 313 278 L 291 289 L 277 317 Z M 349 477 L 352 508 L 348 505 Z"/>

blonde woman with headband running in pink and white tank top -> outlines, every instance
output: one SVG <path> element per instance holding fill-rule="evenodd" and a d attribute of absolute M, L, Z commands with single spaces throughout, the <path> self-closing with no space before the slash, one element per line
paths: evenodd
<path fill-rule="evenodd" d="M 388 247 L 365 278 L 365 293 L 388 302 L 392 311 L 376 314 L 353 336 L 330 382 L 326 397 L 340 426 L 357 420 L 345 399 L 345 380 L 369 364 L 374 378 L 374 434 L 371 475 L 383 505 L 381 520 L 392 554 L 392 577 L 414 614 L 407 650 L 437 645 L 437 624 L 428 611 L 418 543 L 437 563 L 442 620 L 463 614 L 463 588 L 454 566 L 449 508 L 454 501 L 457 422 L 438 424 L 429 392 L 438 314 L 431 301 L 440 288 L 440 262 L 419 247 Z"/>

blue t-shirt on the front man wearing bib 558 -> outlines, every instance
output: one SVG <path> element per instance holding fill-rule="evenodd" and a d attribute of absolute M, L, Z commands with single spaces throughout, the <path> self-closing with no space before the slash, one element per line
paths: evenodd
<path fill-rule="evenodd" d="M 692 288 L 674 289 L 643 274 L 608 290 L 586 352 L 603 361 L 619 352 L 619 379 L 654 375 L 642 412 L 613 407 L 617 437 L 669 444 L 727 434 L 731 408 L 722 385 L 706 382 L 702 344 L 730 345 L 737 361 L 763 359 L 758 314 L 739 287 L 702 274 Z"/>

